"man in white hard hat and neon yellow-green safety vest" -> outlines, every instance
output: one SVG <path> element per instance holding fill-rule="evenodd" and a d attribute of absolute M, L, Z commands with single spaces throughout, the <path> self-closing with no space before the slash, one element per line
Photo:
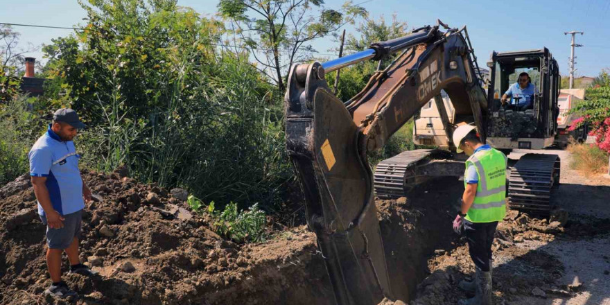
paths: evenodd
<path fill-rule="evenodd" d="M 455 232 L 466 234 L 470 257 L 476 266 L 473 281 L 462 281 L 463 290 L 475 293 L 462 305 L 491 304 L 491 244 L 498 221 L 506 214 L 506 156 L 483 145 L 476 128 L 462 125 L 453 132 L 457 152 L 470 157 L 464 173 L 464 194 L 460 214 L 453 220 Z"/>

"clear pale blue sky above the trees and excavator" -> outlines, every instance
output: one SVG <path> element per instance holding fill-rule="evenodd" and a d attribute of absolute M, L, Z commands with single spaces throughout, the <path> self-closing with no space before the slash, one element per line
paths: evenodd
<path fill-rule="evenodd" d="M 366 0 L 354 0 L 354 3 Z M 344 0 L 326 0 L 328 8 L 340 9 Z M 218 0 L 178 0 L 204 16 L 216 13 Z M 491 51 L 541 49 L 546 46 L 561 69 L 568 75 L 570 35 L 578 30 L 575 49 L 577 76 L 597 76 L 602 68 L 610 67 L 610 0 L 513 0 L 513 1 L 455 1 L 455 0 L 369 0 L 363 3 L 369 16 L 383 15 L 390 21 L 397 14 L 409 28 L 436 24 L 441 19 L 451 27 L 467 26 L 473 49 L 480 65 L 485 67 Z M 77 26 L 86 17 L 76 0 L 0 0 L 0 22 L 45 26 Z M 51 44 L 51 39 L 68 35 L 70 30 L 14 26 L 21 33 L 20 46 Z M 357 35 L 354 26 L 347 33 Z M 318 40 L 314 47 L 320 53 L 332 53 L 336 47 L 330 37 Z M 43 60 L 42 52 L 26 54 Z"/>

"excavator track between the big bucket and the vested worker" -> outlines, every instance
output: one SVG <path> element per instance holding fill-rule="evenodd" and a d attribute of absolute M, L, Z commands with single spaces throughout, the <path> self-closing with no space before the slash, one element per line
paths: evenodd
<path fill-rule="evenodd" d="M 432 152 L 431 149 L 408 150 L 379 162 L 374 174 L 376 196 L 384 199 L 403 197 L 408 171 Z"/>

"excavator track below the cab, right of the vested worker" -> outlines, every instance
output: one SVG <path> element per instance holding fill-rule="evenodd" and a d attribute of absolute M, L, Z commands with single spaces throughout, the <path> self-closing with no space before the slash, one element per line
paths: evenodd
<path fill-rule="evenodd" d="M 552 189 L 559 186 L 560 166 L 558 155 L 523 155 L 510 171 L 509 207 L 548 216 Z"/>

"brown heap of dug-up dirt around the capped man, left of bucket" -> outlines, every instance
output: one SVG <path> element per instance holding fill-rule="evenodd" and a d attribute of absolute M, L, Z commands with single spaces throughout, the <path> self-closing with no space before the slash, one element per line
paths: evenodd
<path fill-rule="evenodd" d="M 165 189 L 116 173 L 82 177 L 101 201 L 85 209 L 80 258 L 100 276 L 64 275 L 81 295 L 77 304 L 332 299 L 315 238 L 304 227 L 262 245 L 237 245 L 212 232 L 207 219 L 190 214 L 186 203 Z M 41 296 L 50 284 L 45 227 L 28 180 L 3 188 L 0 201 L 1 304 L 52 302 Z M 312 290 L 317 295 L 308 295 Z"/>

